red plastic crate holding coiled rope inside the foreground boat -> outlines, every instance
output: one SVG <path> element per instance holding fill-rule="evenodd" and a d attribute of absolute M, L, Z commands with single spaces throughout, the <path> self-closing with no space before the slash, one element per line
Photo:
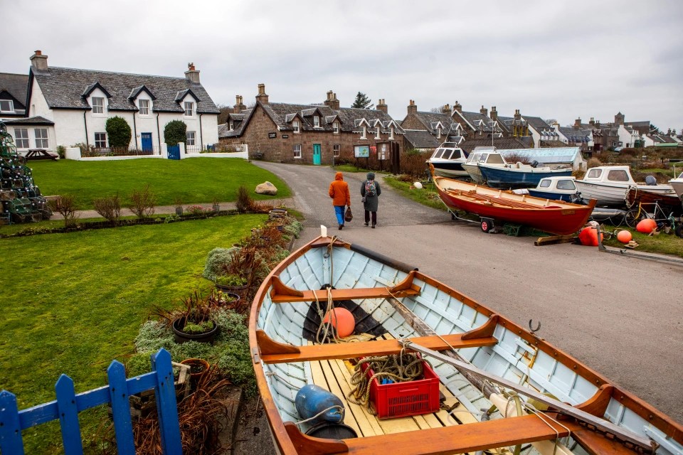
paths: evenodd
<path fill-rule="evenodd" d="M 368 378 L 374 371 L 367 364 L 361 365 Z M 380 384 L 377 379 L 370 383 L 370 401 L 379 419 L 428 414 L 440 408 L 439 377 L 428 363 L 423 363 L 424 379 L 410 382 Z"/>

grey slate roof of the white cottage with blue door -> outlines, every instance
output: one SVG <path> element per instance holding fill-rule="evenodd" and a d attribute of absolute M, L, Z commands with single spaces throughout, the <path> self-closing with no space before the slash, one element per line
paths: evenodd
<path fill-rule="evenodd" d="M 74 68 L 50 67 L 46 71 L 33 72 L 31 76 L 40 85 L 43 95 L 52 109 L 91 109 L 82 96 L 88 87 L 99 83 L 110 95 L 110 110 L 137 111 L 134 100 L 129 96 L 142 85 L 156 100 L 154 112 L 184 112 L 176 97 L 189 91 L 197 98 L 198 114 L 218 114 L 220 111 L 201 84 L 195 84 L 186 77 L 166 77 L 108 71 L 78 70 Z"/>

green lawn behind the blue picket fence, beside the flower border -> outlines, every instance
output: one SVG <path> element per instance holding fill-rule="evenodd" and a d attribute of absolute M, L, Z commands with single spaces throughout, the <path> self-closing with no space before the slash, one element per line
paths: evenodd
<path fill-rule="evenodd" d="M 76 392 L 105 385 L 107 366 L 133 352 L 152 308 L 208 289 L 211 283 L 201 277 L 207 253 L 229 247 L 267 218 L 0 239 L 0 390 L 14 392 L 23 409 L 54 400 L 60 373 L 73 378 Z M 82 414 L 86 442 L 97 439 L 104 414 Z M 54 422 L 26 430 L 25 440 L 27 454 L 60 453 Z"/>

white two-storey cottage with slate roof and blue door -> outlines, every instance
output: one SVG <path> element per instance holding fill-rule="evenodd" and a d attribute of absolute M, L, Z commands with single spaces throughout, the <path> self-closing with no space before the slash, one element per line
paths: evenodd
<path fill-rule="evenodd" d="M 20 125 L 8 124 L 9 133 L 18 151 L 54 151 L 75 144 L 100 149 L 109 146 L 107 119 L 118 116 L 130 125 L 131 149 L 159 154 L 164 127 L 181 120 L 187 125 L 187 151 L 201 151 L 218 142 L 219 110 L 199 82 L 194 64 L 188 68 L 185 77 L 51 68 L 48 56 L 36 50 L 28 75 L 26 120 L 41 119 L 45 131 L 33 142 L 30 134 L 28 141 L 17 140 L 30 133 Z"/>

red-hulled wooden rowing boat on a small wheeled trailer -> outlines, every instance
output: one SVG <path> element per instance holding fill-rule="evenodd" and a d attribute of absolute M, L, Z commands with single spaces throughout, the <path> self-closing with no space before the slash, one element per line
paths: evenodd
<path fill-rule="evenodd" d="M 579 205 L 534 198 L 447 177 L 433 176 L 439 198 L 450 210 L 465 210 L 482 218 L 528 225 L 557 235 L 570 235 L 586 224 L 595 200 Z"/>

